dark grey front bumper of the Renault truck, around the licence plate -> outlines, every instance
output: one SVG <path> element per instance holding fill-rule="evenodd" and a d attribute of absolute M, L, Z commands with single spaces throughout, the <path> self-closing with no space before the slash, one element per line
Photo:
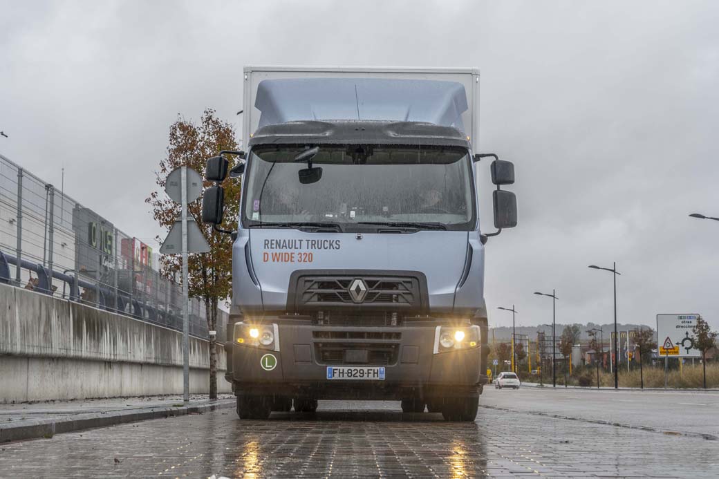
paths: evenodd
<path fill-rule="evenodd" d="M 436 325 L 392 328 L 322 327 L 279 324 L 279 351 L 234 344 L 232 380 L 236 393 L 267 393 L 313 398 L 401 399 L 412 396 L 478 396 L 482 347 L 434 353 Z M 390 333 L 390 334 L 388 334 Z M 324 355 L 337 350 L 375 348 L 391 351 L 384 363 L 347 364 Z M 274 356 L 274 368 L 262 357 Z M 385 368 L 385 380 L 327 380 L 327 366 Z M 265 362 L 267 366 L 267 362 Z"/>

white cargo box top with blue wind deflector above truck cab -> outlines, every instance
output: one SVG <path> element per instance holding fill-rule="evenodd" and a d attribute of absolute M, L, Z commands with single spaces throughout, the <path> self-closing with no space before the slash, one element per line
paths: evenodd
<path fill-rule="evenodd" d="M 242 140 L 266 124 L 298 120 L 430 122 L 477 145 L 477 68 L 248 66 Z"/>

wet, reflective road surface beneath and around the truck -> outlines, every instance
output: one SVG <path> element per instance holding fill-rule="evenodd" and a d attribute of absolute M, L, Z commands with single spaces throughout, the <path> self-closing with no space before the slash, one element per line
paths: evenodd
<path fill-rule="evenodd" d="M 1 444 L 0 477 L 719 477 L 719 441 L 642 424 L 669 396 L 636 396 L 621 412 L 615 391 L 485 391 L 475 423 L 327 401 L 314 415 L 224 410 Z M 717 397 L 702 396 L 713 401 L 705 423 L 719 421 Z M 574 419 L 551 416 L 562 402 Z M 602 409 L 624 426 L 593 422 Z"/>

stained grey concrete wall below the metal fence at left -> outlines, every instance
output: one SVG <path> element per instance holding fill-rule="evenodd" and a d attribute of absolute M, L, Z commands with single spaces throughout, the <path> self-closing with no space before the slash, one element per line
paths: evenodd
<path fill-rule="evenodd" d="M 229 392 L 221 345 L 217 358 Z M 191 337 L 191 392 L 209 391 L 209 362 Z M 0 285 L 0 402 L 182 393 L 182 365 L 180 332 Z"/>

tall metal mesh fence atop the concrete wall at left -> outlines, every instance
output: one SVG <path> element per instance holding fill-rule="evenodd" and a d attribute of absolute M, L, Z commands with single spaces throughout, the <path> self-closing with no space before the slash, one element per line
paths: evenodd
<path fill-rule="evenodd" d="M 158 273 L 159 261 L 151 247 L 0 155 L 0 283 L 181 331 L 182 291 Z M 190 334 L 208 336 L 195 298 Z"/>

